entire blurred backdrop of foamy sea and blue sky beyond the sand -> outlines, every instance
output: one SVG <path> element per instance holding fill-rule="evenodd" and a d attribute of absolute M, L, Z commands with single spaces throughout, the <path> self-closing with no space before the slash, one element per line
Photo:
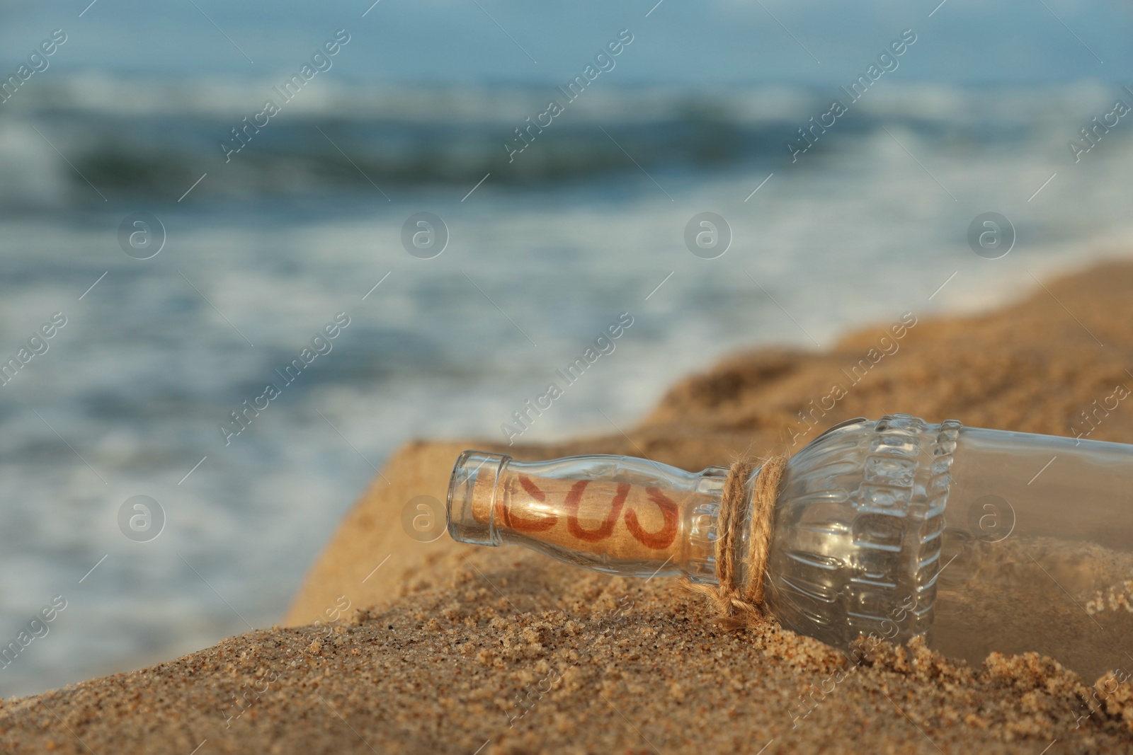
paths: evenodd
<path fill-rule="evenodd" d="M 581 20 L 546 24 L 511 2 L 386 0 L 365 17 L 352 5 L 0 3 L 5 76 L 68 33 L 0 104 L 0 359 L 67 319 L 0 386 L 0 645 L 67 600 L 0 669 L 0 694 L 280 620 L 399 444 L 502 440 L 621 312 L 633 325 L 614 352 L 525 440 L 616 432 L 741 348 L 826 348 L 849 328 L 997 307 L 1036 278 L 1131 256 L 1133 123 L 1079 162 L 1067 147 L 1116 100 L 1133 104 L 1128 11 L 1054 6 L 1087 48 L 1041 8 L 969 29 L 977 11 L 954 2 L 959 22 L 949 6 L 929 18 L 929 6 L 875 3 L 842 25 L 770 3 L 804 49 L 769 12 L 719 3 L 699 23 L 675 0 L 648 17 L 583 3 Z M 337 68 L 225 162 L 230 130 L 340 27 L 351 40 Z M 792 158 L 785 143 L 906 27 L 919 38 L 902 67 Z M 509 161 L 513 129 L 621 28 L 636 37 L 617 67 Z M 692 40 L 674 43 L 683 29 Z M 1094 48 L 1118 57 L 1102 67 Z M 138 212 L 165 233 L 145 260 L 119 242 Z M 402 246 L 419 212 L 449 230 L 432 259 Z M 731 226 L 716 259 L 685 247 L 700 212 Z M 1014 225 L 1006 257 L 969 247 L 985 212 Z M 338 312 L 350 325 L 332 350 L 225 444 L 218 426 L 282 384 L 275 370 Z M 138 495 L 167 518 L 148 542 L 119 527 Z"/>

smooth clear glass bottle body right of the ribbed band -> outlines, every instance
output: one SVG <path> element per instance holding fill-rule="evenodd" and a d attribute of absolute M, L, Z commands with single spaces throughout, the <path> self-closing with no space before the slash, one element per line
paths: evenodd
<path fill-rule="evenodd" d="M 1133 446 L 965 428 L 930 645 L 1133 670 Z"/>

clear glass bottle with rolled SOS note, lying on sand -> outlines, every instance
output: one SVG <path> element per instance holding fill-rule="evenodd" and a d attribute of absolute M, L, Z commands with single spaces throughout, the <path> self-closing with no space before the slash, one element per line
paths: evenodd
<path fill-rule="evenodd" d="M 714 584 L 726 477 L 469 451 L 450 481 L 449 533 Z M 974 663 L 1037 651 L 1090 680 L 1133 668 L 1133 446 L 905 414 L 844 422 L 786 465 L 765 591 L 784 626 L 843 649 L 925 636 Z"/>

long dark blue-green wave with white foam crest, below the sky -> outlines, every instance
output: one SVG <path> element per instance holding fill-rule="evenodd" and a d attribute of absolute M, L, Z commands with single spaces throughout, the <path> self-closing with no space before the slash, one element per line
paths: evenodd
<path fill-rule="evenodd" d="M 85 74 L 29 87 L 18 108 L 0 109 L 0 199 L 7 207 L 102 201 L 92 186 L 121 199 L 177 199 L 204 172 L 223 180 L 203 185 L 188 201 L 471 186 L 486 173 L 493 185 L 538 186 L 638 166 L 774 170 L 790 162 L 787 141 L 798 140 L 807 119 L 834 96 L 813 87 L 610 86 L 566 101 L 554 87 L 327 80 L 305 88 L 286 112 L 256 128 L 248 115 L 278 98 L 273 81 Z M 883 125 L 949 147 L 1034 144 L 1062 138 L 1067 118 L 1091 112 L 1107 92 L 1100 84 L 1005 91 L 886 83 L 840 121 L 836 139 L 816 149 L 852 143 Z M 533 130 L 531 118 L 556 97 L 565 113 Z M 520 138 L 530 144 L 516 154 Z M 239 154 L 232 152 L 237 139 L 247 141 Z"/>

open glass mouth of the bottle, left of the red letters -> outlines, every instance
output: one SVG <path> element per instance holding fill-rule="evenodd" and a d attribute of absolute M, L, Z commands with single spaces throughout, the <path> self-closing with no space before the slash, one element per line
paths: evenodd
<path fill-rule="evenodd" d="M 511 456 L 486 451 L 466 451 L 457 457 L 449 478 L 450 538 L 474 546 L 501 544 L 493 513 L 500 473 L 509 461 Z"/>

